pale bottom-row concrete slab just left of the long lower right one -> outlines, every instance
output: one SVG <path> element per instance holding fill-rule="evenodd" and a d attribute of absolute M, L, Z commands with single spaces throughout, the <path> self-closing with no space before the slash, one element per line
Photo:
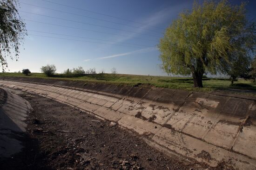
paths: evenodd
<path fill-rule="evenodd" d="M 151 134 L 156 133 L 160 130 L 161 126 L 154 123 L 135 118 L 130 115 L 124 115 L 121 120 L 118 121 L 118 124 L 122 127 L 134 130 L 139 134 Z"/>

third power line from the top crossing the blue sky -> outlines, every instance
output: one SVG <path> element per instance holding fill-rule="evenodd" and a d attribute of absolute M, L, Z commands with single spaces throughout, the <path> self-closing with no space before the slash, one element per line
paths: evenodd
<path fill-rule="evenodd" d="M 20 12 L 22 12 L 22 13 L 30 13 L 30 12 L 26 12 L 26 11 L 20 11 Z M 38 14 L 38 13 L 30 13 L 30 14 L 33 14 L 33 15 L 39 15 L 39 16 L 48 17 L 48 18 L 53 18 L 53 19 L 61 19 L 61 20 L 70 21 L 70 22 L 75 22 L 75 23 L 80 23 L 80 24 L 86 24 L 86 25 L 99 26 L 99 27 L 109 28 L 109 29 L 113 29 L 113 30 L 119 30 L 119 31 L 131 32 L 131 33 L 141 34 L 141 35 L 146 35 L 146 36 L 150 36 L 150 37 L 157 37 L 157 36 L 154 36 L 154 35 L 143 34 L 143 33 L 140 33 L 140 32 L 127 31 L 127 30 L 122 30 L 122 29 L 113 28 L 113 27 L 108 27 L 108 26 L 102 26 L 102 25 L 90 24 L 90 23 L 87 23 L 87 22 L 74 21 L 74 20 L 71 20 L 71 19 L 62 19 L 62 18 L 53 17 L 53 16 L 49 16 L 49 15 L 42 15 L 42 14 Z M 159 38 L 159 37 L 157 37 L 157 38 Z"/>

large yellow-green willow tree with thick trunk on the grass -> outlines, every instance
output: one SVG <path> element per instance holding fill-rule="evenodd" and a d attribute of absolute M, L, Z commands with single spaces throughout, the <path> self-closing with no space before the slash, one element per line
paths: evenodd
<path fill-rule="evenodd" d="M 228 74 L 237 57 L 248 60 L 254 52 L 255 27 L 245 14 L 245 3 L 195 2 L 192 10 L 180 13 L 160 40 L 163 69 L 168 74 L 192 75 L 194 87 L 202 87 L 204 73 Z"/>

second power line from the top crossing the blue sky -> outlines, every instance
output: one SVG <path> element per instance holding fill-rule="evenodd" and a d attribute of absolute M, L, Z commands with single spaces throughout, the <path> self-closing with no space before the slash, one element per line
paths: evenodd
<path fill-rule="evenodd" d="M 118 23 L 118 22 L 114 22 L 114 21 L 109 21 L 109 20 L 106 20 L 106 19 L 99 19 L 99 18 L 94 18 L 94 17 L 88 17 L 88 16 L 85 16 L 85 15 L 80 15 L 80 14 L 76 14 L 76 13 L 69 13 L 69 12 L 66 12 L 66 11 L 61 11 L 61 10 L 57 10 L 57 9 L 47 8 L 47 7 L 43 7 L 43 6 L 37 6 L 37 5 L 33 5 L 33 4 L 28 4 L 28 3 L 25 3 L 25 2 L 20 2 L 20 3 L 21 4 L 26 4 L 26 5 L 29 5 L 29 6 L 40 7 L 40 8 L 44 8 L 44 9 L 48 9 L 48 10 L 52 10 L 52 11 L 57 11 L 57 12 L 60 12 L 60 13 L 68 13 L 68 14 L 71 14 L 71 15 L 76 15 L 76 16 L 85 17 L 85 18 L 89 18 L 89 19 L 97 19 L 97 20 L 101 20 L 101 21 L 106 21 L 106 22 L 114 23 L 114 24 L 125 25 L 125 26 L 129 26 L 129 27 L 133 27 L 133 28 L 138 28 L 138 29 L 142 29 L 142 30 L 147 30 L 147 31 L 161 33 L 159 31 L 149 30 L 149 29 L 145 29 L 145 28 L 141 28 L 141 27 L 137 27 L 137 26 L 132 26 L 132 25 L 126 25 L 126 24 L 122 24 L 122 23 Z"/>

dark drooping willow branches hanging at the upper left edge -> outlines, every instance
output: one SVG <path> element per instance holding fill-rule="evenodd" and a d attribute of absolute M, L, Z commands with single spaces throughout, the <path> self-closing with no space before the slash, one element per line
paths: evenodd
<path fill-rule="evenodd" d="M 18 60 L 20 41 L 25 35 L 27 31 L 17 10 L 17 0 L 0 0 L 0 63 L 3 71 L 7 67 L 7 56 Z"/>

